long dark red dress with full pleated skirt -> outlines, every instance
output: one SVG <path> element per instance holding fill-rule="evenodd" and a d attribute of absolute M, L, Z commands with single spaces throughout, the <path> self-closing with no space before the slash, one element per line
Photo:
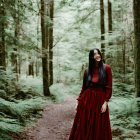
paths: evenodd
<path fill-rule="evenodd" d="M 103 88 L 95 83 L 98 81 L 98 67 L 94 69 L 92 85 L 79 94 L 77 112 L 69 140 L 112 140 L 109 108 L 101 113 L 104 101 L 109 101 L 112 96 L 112 71 L 108 64 L 106 69 L 107 84 Z M 85 76 L 85 72 L 84 72 Z M 84 78 L 83 78 L 84 83 Z"/>

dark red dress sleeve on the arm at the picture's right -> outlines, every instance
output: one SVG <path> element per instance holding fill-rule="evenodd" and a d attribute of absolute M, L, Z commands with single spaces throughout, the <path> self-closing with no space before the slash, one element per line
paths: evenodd
<path fill-rule="evenodd" d="M 108 65 L 107 66 L 107 83 L 105 86 L 105 99 L 104 101 L 109 101 L 111 96 L 112 96 L 112 71 L 111 71 L 111 67 Z"/>

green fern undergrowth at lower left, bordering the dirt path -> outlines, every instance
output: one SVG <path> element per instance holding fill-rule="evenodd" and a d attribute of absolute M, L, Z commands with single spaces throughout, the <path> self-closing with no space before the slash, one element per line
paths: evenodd
<path fill-rule="evenodd" d="M 23 81 L 22 81 L 23 82 Z M 29 84 L 17 82 L 10 70 L 0 71 L 0 131 L 1 137 L 19 133 L 30 120 L 40 117 L 46 101 Z M 27 84 L 27 85 L 26 85 Z M 23 88 L 24 87 L 24 88 Z M 26 90 L 25 90 L 26 89 Z"/>

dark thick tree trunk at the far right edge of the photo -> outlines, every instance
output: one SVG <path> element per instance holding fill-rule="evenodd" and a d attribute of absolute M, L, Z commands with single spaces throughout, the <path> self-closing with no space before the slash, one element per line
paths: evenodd
<path fill-rule="evenodd" d="M 140 0 L 133 0 L 135 35 L 135 86 L 136 96 L 140 97 Z"/>

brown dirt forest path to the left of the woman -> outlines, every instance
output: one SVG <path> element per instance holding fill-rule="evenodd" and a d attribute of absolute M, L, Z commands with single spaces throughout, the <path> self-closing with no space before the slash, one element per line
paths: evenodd
<path fill-rule="evenodd" d="M 26 128 L 28 140 L 68 140 L 77 100 L 74 95 L 67 95 L 62 103 L 47 105 L 42 117 L 34 127 Z"/>

